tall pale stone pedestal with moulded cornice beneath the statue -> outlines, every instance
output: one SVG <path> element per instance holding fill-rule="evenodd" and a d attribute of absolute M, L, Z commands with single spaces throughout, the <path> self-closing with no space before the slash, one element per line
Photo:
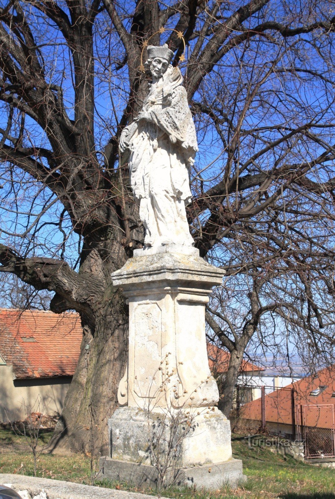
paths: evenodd
<path fill-rule="evenodd" d="M 179 485 L 217 489 L 243 481 L 230 423 L 215 407 L 205 338 L 205 304 L 223 274 L 198 250 L 171 246 L 136 250 L 112 274 L 129 301 L 129 355 L 121 407 L 108 422 L 106 478 L 152 486 L 168 465 L 166 480 Z"/>

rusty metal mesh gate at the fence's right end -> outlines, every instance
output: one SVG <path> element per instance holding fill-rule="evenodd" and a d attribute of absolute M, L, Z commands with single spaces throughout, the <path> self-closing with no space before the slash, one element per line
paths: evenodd
<path fill-rule="evenodd" d="M 334 458 L 334 405 L 301 405 L 299 412 L 301 436 L 305 441 L 305 458 Z"/>

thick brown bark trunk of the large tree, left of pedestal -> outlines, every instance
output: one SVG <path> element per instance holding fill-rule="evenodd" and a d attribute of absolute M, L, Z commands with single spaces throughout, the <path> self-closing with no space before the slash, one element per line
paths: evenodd
<path fill-rule="evenodd" d="M 107 452 L 107 420 L 117 407 L 128 353 L 128 307 L 122 290 L 110 285 L 93 313 L 94 331 L 91 319 L 80 313 L 79 361 L 49 444 L 51 451 L 66 449 L 92 456 Z"/>

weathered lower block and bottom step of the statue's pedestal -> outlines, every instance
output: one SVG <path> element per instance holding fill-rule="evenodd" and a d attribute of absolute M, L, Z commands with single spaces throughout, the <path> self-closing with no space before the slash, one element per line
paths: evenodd
<path fill-rule="evenodd" d="M 192 408 L 185 418 L 186 409 L 170 414 L 119 407 L 108 420 L 103 476 L 147 487 L 155 487 L 162 474 L 166 484 L 179 487 L 237 487 L 246 478 L 242 461 L 232 459 L 230 423 L 216 407 L 206 409 Z"/>

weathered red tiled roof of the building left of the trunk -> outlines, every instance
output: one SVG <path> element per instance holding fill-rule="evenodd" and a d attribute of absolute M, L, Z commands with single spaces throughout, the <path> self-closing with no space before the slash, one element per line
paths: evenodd
<path fill-rule="evenodd" d="M 81 340 L 77 313 L 0 309 L 0 356 L 14 378 L 72 376 Z"/>

